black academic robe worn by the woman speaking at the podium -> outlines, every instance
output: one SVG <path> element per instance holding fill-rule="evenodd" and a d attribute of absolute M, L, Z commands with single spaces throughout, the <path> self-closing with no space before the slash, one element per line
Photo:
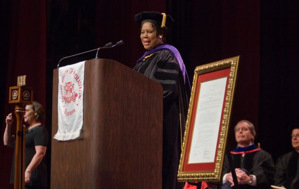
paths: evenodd
<path fill-rule="evenodd" d="M 185 85 L 178 61 L 166 49 L 140 61 L 134 70 L 161 83 L 163 87 L 162 188 L 175 189 L 178 185 L 176 175 L 181 152 L 181 135 L 184 133 L 189 103 L 186 90 L 190 91 L 190 87 L 186 89 L 185 86 L 189 86 L 189 81 L 186 81 L 188 85 Z"/>

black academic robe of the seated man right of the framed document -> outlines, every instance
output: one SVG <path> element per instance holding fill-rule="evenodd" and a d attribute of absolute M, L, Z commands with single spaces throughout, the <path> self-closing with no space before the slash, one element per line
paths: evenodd
<path fill-rule="evenodd" d="M 233 153 L 233 152 L 232 152 Z M 242 154 L 231 154 L 235 168 L 243 168 L 248 171 L 248 175 L 256 176 L 256 185 L 239 185 L 240 189 L 270 189 L 273 184 L 274 162 L 272 156 L 259 149 L 257 151 L 247 152 L 244 157 Z M 223 175 L 229 173 L 229 164 L 227 158 L 224 160 Z"/>

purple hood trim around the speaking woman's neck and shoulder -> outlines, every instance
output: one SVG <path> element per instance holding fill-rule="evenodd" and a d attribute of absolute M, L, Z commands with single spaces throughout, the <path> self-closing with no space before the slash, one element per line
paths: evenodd
<path fill-rule="evenodd" d="M 152 49 L 152 50 L 149 50 L 147 51 L 145 54 L 143 54 L 143 56 L 141 56 L 138 60 L 137 60 L 137 63 L 140 62 L 142 59 L 144 59 L 146 56 L 148 56 L 149 54 L 153 54 L 153 53 L 156 53 L 158 51 L 161 51 L 163 49 L 167 49 L 169 50 L 173 55 L 174 57 L 176 58 L 176 60 L 178 61 L 179 63 L 179 67 L 181 68 L 181 71 L 183 73 L 183 78 L 184 78 L 184 82 L 186 82 L 185 80 L 185 75 L 187 75 L 186 73 L 186 68 L 185 68 L 185 64 L 182 60 L 182 57 L 181 55 L 179 54 L 179 52 L 177 51 L 177 49 L 172 46 L 172 45 L 159 45 L 157 46 L 156 48 Z M 188 78 L 188 75 L 187 75 L 187 78 Z M 189 78 L 188 78 L 188 82 L 189 82 Z"/>

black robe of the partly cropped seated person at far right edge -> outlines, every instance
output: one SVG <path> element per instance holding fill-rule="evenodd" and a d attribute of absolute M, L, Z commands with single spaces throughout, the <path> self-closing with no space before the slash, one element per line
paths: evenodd
<path fill-rule="evenodd" d="M 287 189 L 299 189 L 299 153 L 295 150 L 285 154 L 276 162 L 274 185 Z"/>

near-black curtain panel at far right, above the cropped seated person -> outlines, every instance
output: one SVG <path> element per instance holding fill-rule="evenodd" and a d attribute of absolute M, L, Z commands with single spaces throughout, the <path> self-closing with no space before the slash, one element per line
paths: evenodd
<path fill-rule="evenodd" d="M 274 159 L 293 150 L 299 123 L 299 1 L 261 1 L 259 138 Z"/>

